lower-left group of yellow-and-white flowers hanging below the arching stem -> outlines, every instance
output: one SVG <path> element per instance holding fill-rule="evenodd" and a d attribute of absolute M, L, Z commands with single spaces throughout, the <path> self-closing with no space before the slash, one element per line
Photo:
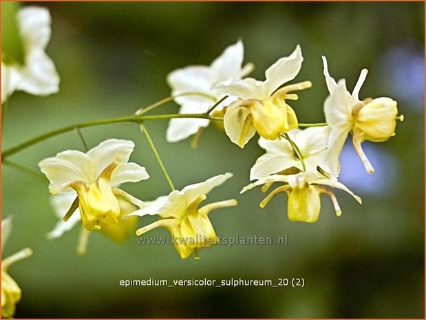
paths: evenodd
<path fill-rule="evenodd" d="M 136 228 L 136 216 L 158 214 L 162 220 L 136 231 L 141 235 L 156 226 L 169 229 L 175 248 L 182 259 L 197 249 L 217 242 L 207 214 L 213 209 L 235 206 L 236 200 L 207 204 L 198 208 L 206 194 L 231 178 L 231 173 L 217 175 L 205 182 L 191 184 L 182 191 L 174 190 L 153 202 L 142 202 L 118 185 L 149 178 L 144 167 L 129 160 L 134 142 L 110 139 L 83 153 L 67 150 L 39 163 L 50 180 L 52 203 L 63 220 L 47 236 L 61 237 L 75 224 L 83 225 L 78 253 L 87 248 L 87 231 L 100 231 L 116 242 L 123 242 Z M 59 194 L 58 194 L 59 193 Z M 65 215 L 64 215 L 65 213 Z M 74 214 L 73 213 L 77 213 Z M 202 243 L 197 239 L 204 239 Z"/>

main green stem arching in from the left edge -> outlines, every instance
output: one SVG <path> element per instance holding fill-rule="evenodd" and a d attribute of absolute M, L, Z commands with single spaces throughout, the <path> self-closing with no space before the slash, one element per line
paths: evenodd
<path fill-rule="evenodd" d="M 203 118 L 203 119 L 209 119 L 209 120 L 223 121 L 223 118 L 221 117 L 207 116 L 206 114 L 158 114 L 153 116 L 126 116 L 126 117 L 120 117 L 120 118 L 93 120 L 88 122 L 81 122 L 76 125 L 69 125 L 61 129 L 56 129 L 54 131 L 47 132 L 46 134 L 42 134 L 41 136 L 36 136 L 35 138 L 22 142 L 19 145 L 6 149 L 5 151 L 1 153 L 1 158 L 4 161 L 7 157 L 12 156 L 12 154 L 14 153 L 17 153 L 23 149 L 31 147 L 32 145 L 35 145 L 36 143 L 41 142 L 43 140 L 52 138 L 54 136 L 58 136 L 60 134 L 64 134 L 65 132 L 75 130 L 76 127 L 78 129 L 81 129 L 85 127 L 94 127 L 96 125 L 109 125 L 111 123 L 118 123 L 118 122 L 140 123 L 142 121 L 147 121 L 147 120 L 167 120 L 172 118 Z"/>

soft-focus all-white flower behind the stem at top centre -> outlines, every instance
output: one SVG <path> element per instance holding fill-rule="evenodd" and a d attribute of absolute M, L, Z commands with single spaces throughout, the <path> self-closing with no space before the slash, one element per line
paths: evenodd
<path fill-rule="evenodd" d="M 180 114 L 200 114 L 217 103 L 225 95 L 213 87 L 217 83 L 231 79 L 240 79 L 251 72 L 253 66 L 242 67 L 244 47 L 242 41 L 228 46 L 211 65 L 191 65 L 175 70 L 167 76 L 167 83 L 172 89 L 171 94 L 178 96 L 175 102 L 180 105 Z M 197 94 L 194 94 L 197 93 Z M 187 95 L 186 95 L 187 94 Z M 228 97 L 217 105 L 213 115 L 222 115 L 224 106 L 235 98 Z M 196 134 L 201 128 L 207 127 L 208 119 L 171 119 L 167 128 L 167 141 L 177 142 Z"/>

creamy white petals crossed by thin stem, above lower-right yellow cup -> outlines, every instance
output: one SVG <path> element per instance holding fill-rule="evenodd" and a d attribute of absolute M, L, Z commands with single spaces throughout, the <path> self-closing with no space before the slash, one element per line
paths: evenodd
<path fill-rule="evenodd" d="M 327 142 L 330 127 L 309 127 L 307 129 L 292 129 L 288 132 L 290 139 L 299 148 L 306 170 L 317 171 L 317 166 L 323 163 L 327 153 Z M 290 142 L 284 138 L 267 140 L 259 138 L 259 146 L 266 150 L 250 170 L 250 180 L 266 178 L 275 173 L 297 173 L 303 170 L 301 161 Z M 328 168 L 323 168 L 328 169 Z M 290 171 L 290 172 L 289 172 Z"/>

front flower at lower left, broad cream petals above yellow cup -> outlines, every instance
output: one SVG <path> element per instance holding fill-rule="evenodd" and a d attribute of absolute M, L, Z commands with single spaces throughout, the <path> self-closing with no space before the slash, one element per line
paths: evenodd
<path fill-rule="evenodd" d="M 77 193 L 65 214 L 65 221 L 78 208 L 83 226 L 88 231 L 100 230 L 120 219 L 119 196 L 136 206 L 143 205 L 142 201 L 117 187 L 124 182 L 149 178 L 144 167 L 127 162 L 133 150 L 132 141 L 109 139 L 87 153 L 67 150 L 39 162 L 41 171 L 50 180 L 49 189 L 53 195 L 72 189 Z"/>

